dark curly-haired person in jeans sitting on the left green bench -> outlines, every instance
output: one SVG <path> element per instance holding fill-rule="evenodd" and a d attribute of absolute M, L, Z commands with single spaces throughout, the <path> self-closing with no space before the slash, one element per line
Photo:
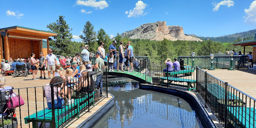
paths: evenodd
<path fill-rule="evenodd" d="M 61 82 L 63 79 L 60 76 L 55 76 L 51 79 L 50 84 L 54 84 L 54 108 L 63 108 L 64 100 L 67 102 L 67 97 L 64 96 L 63 90 L 61 90 Z M 59 83 L 59 84 L 56 84 Z M 49 109 L 52 109 L 52 95 L 51 95 L 51 85 L 46 84 L 44 87 L 44 97 L 47 100 L 47 106 Z M 67 90 L 67 88 L 66 88 Z"/>

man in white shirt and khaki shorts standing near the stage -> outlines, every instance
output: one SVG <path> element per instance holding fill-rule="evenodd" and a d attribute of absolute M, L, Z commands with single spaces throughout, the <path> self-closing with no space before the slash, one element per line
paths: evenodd
<path fill-rule="evenodd" d="M 55 76 L 55 65 L 57 64 L 57 60 L 56 60 L 56 56 L 54 54 L 52 54 L 52 49 L 49 50 L 49 54 L 46 56 L 46 65 L 45 67 L 47 67 L 48 70 L 48 79 L 51 79 L 51 71 L 52 71 L 52 75 L 53 77 Z"/>

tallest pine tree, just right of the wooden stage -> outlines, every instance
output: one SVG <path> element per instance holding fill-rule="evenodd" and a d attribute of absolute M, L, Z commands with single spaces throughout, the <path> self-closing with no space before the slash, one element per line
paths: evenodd
<path fill-rule="evenodd" d="M 79 45 L 77 42 L 71 41 L 72 29 L 69 28 L 68 24 L 64 20 L 64 16 L 59 16 L 59 19 L 47 25 L 52 32 L 56 32 L 57 36 L 53 36 L 53 41 L 49 44 L 53 46 L 54 54 L 57 55 L 75 55 L 79 51 Z"/>

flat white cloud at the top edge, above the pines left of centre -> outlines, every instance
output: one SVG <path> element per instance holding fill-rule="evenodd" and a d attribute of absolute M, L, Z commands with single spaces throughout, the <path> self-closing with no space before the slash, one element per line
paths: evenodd
<path fill-rule="evenodd" d="M 98 2 L 96 2 L 96 0 L 77 0 L 76 4 L 99 9 L 105 9 L 108 7 L 108 3 L 105 0 L 99 0 Z"/>

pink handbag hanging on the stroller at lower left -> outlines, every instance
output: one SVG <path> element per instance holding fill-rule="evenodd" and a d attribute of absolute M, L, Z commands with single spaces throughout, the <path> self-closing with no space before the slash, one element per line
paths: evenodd
<path fill-rule="evenodd" d="M 10 92 L 11 98 L 6 100 L 6 108 L 17 108 L 24 105 L 24 100 L 16 93 Z"/>

